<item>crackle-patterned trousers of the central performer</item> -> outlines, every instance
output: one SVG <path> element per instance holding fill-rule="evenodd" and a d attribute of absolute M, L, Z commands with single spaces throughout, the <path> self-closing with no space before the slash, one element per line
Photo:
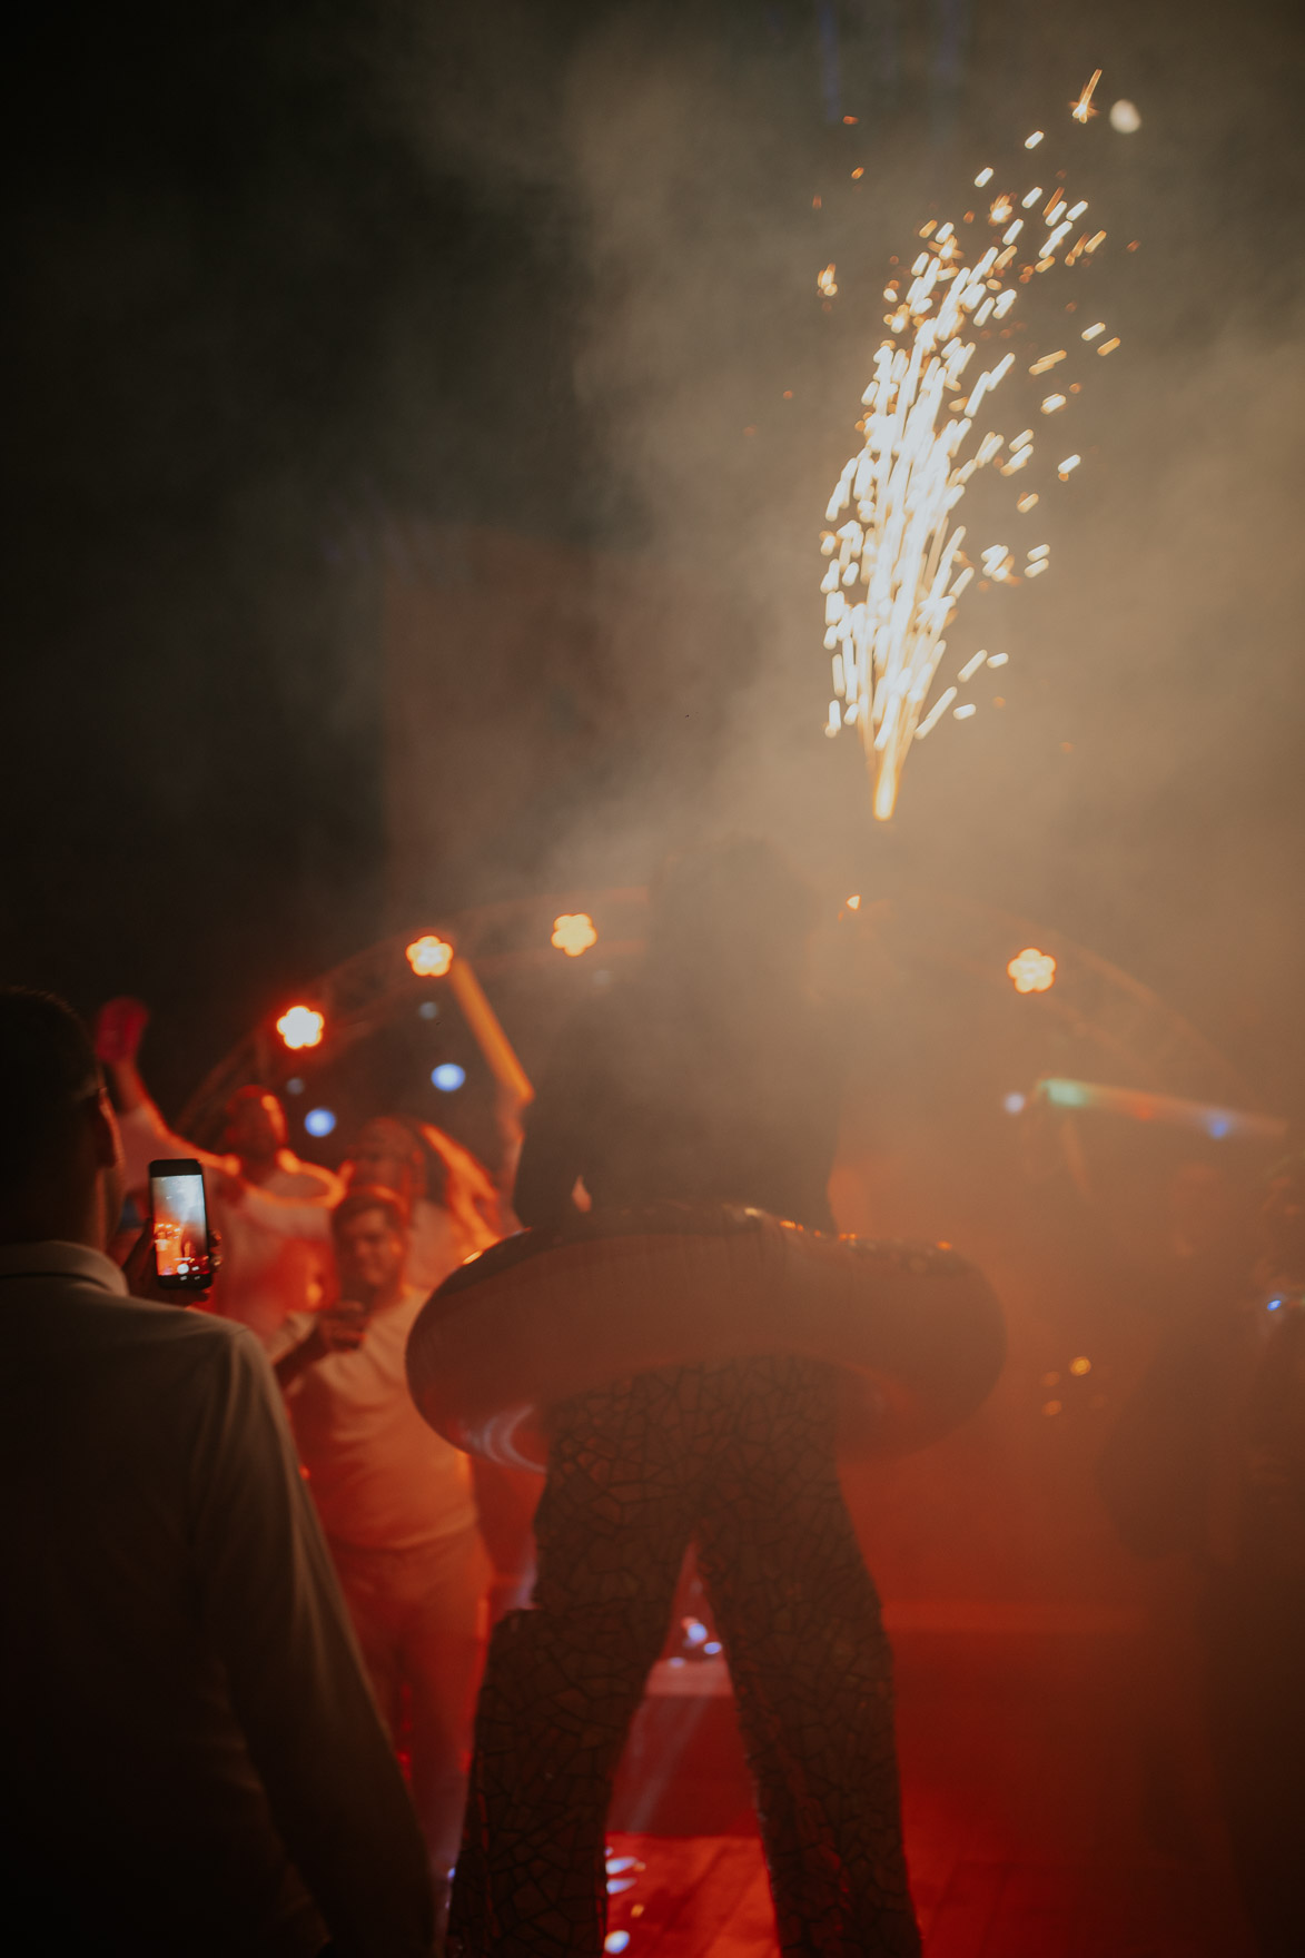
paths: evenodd
<path fill-rule="evenodd" d="M 529 1611 L 490 1641 L 449 1948 L 600 1958 L 611 1778 L 698 1564 L 735 1684 L 786 1958 L 913 1958 L 892 1655 L 839 1488 L 835 1375 L 639 1375 L 555 1420 Z"/>

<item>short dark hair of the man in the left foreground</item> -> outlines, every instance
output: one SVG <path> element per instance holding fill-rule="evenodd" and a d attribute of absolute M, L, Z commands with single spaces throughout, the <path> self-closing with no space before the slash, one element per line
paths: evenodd
<path fill-rule="evenodd" d="M 90 1034 L 65 1001 L 0 989 L 0 1196 L 10 1196 L 71 1134 L 100 1087 Z"/>

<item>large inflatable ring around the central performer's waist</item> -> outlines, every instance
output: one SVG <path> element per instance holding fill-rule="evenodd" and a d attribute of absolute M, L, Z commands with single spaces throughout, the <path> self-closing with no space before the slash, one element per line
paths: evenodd
<path fill-rule="evenodd" d="M 517 1232 L 468 1259 L 413 1324 L 408 1382 L 457 1447 L 537 1468 L 549 1410 L 576 1394 L 764 1353 L 837 1367 L 841 1453 L 895 1455 L 982 1406 L 1005 1331 L 984 1275 L 948 1247 L 658 1204 Z"/>

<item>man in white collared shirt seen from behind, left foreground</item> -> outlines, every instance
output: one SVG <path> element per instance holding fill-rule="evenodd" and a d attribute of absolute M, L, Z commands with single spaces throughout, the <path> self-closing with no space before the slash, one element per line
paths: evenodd
<path fill-rule="evenodd" d="M 0 993 L 12 1948 L 425 1958 L 421 1837 L 266 1357 L 127 1296 L 104 1255 L 120 1202 L 84 1028 Z"/>

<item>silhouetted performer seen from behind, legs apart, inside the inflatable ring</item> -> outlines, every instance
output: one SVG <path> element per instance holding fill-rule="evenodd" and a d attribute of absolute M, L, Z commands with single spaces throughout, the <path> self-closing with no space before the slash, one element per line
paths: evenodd
<path fill-rule="evenodd" d="M 502 1339 L 492 1320 L 500 1279 L 517 1310 L 531 1239 L 562 1245 L 553 1255 L 566 1277 L 576 1232 L 584 1237 L 596 1218 L 647 1220 L 647 1206 L 660 1206 L 656 1228 L 672 1234 L 733 1216 L 741 1249 L 717 1241 L 729 1257 L 796 1255 L 776 1218 L 807 1226 L 788 1234 L 794 1241 L 841 1251 L 837 1239 L 813 1239 L 833 1228 L 825 1187 L 841 1083 L 835 1040 L 805 995 L 811 928 L 811 891 L 760 842 L 668 867 L 641 973 L 574 1022 L 541 1085 L 515 1185 L 531 1230 L 455 1275 L 413 1331 L 410 1380 L 427 1420 L 490 1453 L 494 1422 L 476 1429 L 449 1414 L 459 1392 L 476 1398 L 464 1384 L 476 1367 L 488 1400 L 498 1392 L 504 1404 L 513 1369 L 551 1376 L 553 1396 L 582 1382 L 560 1400 L 539 1388 L 553 1402 L 539 1580 L 533 1608 L 506 1617 L 490 1645 L 449 1925 L 462 1958 L 604 1950 L 611 1780 L 690 1541 L 737 1694 L 782 1950 L 919 1952 L 892 1655 L 839 1488 L 839 1371 L 809 1355 L 811 1339 L 807 1351 L 801 1339 L 782 1351 L 792 1286 L 778 1306 L 762 1304 L 760 1286 L 754 1320 L 743 1296 L 733 1331 L 711 1331 L 711 1298 L 682 1300 L 676 1331 L 658 1326 L 660 1294 L 645 1314 L 637 1286 L 617 1282 L 584 1331 L 564 1324 L 572 1304 L 584 1310 L 580 1286 L 555 1282 L 549 1300 L 541 1257 L 525 1318 Z M 594 1206 L 588 1224 L 576 1192 Z M 670 1292 L 684 1239 L 641 1243 L 670 1247 L 651 1253 Z M 580 1243 L 576 1255 L 602 1249 Z M 476 1292 L 476 1306 L 460 1308 Z M 617 1349 L 627 1339 L 625 1378 L 607 1351 L 613 1337 Z M 978 1398 L 999 1367 L 999 1328 L 984 1339 Z M 658 1363 L 678 1351 L 707 1357 Z"/>

